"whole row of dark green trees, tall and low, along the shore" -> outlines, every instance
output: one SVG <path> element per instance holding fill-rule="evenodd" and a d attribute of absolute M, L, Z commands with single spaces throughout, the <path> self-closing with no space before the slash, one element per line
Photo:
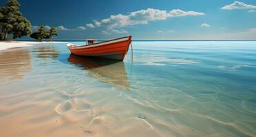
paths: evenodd
<path fill-rule="evenodd" d="M 28 18 L 22 15 L 20 6 L 19 1 L 8 0 L 6 6 L 0 7 L 0 40 L 10 40 L 8 35 L 12 35 L 13 40 L 30 36 L 37 41 L 51 40 L 53 36 L 58 36 L 54 27 L 47 30 L 44 25 L 39 27 L 38 32 L 32 33 L 32 25 Z"/>

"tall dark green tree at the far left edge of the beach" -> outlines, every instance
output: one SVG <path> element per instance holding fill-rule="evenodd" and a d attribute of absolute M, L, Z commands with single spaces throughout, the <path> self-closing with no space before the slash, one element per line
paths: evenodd
<path fill-rule="evenodd" d="M 0 8 L 1 40 L 6 40 L 8 34 L 13 34 L 13 38 L 31 34 L 30 21 L 22 16 L 20 6 L 17 0 L 8 0 L 6 6 Z"/>

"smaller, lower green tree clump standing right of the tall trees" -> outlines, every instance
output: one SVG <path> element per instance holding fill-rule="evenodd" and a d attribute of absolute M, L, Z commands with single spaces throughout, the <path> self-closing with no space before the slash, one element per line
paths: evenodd
<path fill-rule="evenodd" d="M 52 27 L 49 31 L 46 31 L 44 25 L 39 27 L 38 32 L 34 32 L 30 35 L 31 38 L 34 38 L 37 41 L 42 41 L 43 39 L 51 40 L 53 36 L 58 36 L 56 29 Z"/>

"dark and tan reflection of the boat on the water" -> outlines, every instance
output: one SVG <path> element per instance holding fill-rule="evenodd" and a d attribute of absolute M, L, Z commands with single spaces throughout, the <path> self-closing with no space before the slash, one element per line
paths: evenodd
<path fill-rule="evenodd" d="M 90 58 L 70 54 L 68 62 L 87 69 L 90 77 L 95 77 L 100 82 L 129 90 L 129 81 L 124 62 L 104 58 Z"/>

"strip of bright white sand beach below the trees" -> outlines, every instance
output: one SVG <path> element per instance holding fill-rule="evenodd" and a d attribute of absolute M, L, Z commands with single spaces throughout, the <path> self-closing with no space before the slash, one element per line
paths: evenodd
<path fill-rule="evenodd" d="M 38 44 L 54 44 L 54 43 L 67 43 L 67 42 L 36 42 L 36 41 L 1 41 L 0 42 L 0 52 L 5 51 L 7 49 L 17 48 L 17 47 L 30 47 Z"/>

